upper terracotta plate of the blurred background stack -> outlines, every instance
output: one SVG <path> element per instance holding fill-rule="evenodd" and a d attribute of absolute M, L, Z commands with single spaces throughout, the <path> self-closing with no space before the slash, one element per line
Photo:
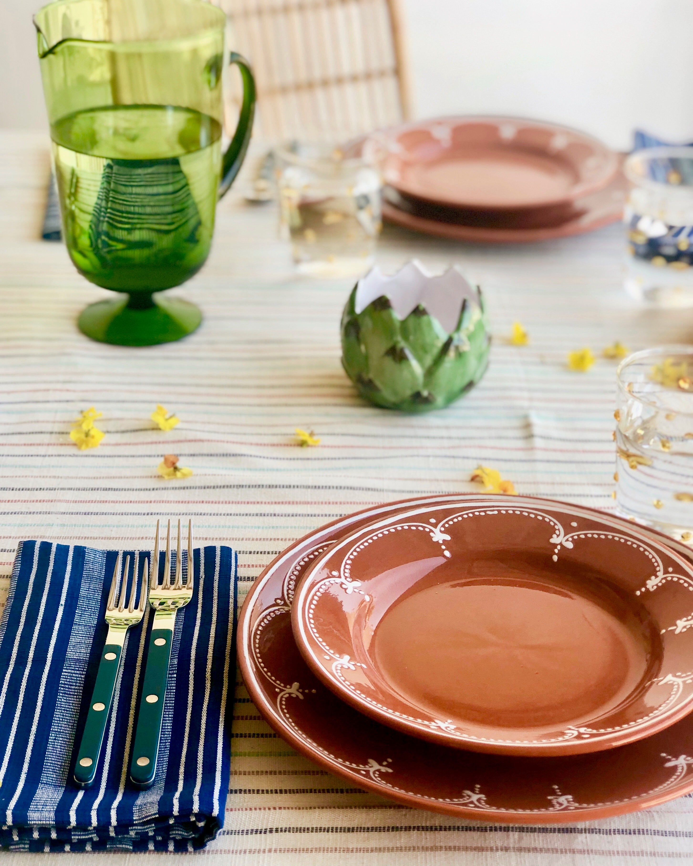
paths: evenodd
<path fill-rule="evenodd" d="M 606 186 L 619 158 L 592 136 L 511 117 L 422 120 L 366 139 L 385 147 L 385 183 L 475 210 L 543 208 Z M 379 151 L 380 152 L 380 151 Z"/>

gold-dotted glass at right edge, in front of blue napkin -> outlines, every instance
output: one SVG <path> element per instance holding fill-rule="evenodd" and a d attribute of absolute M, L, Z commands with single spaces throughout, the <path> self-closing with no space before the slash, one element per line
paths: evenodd
<path fill-rule="evenodd" d="M 632 153 L 625 289 L 656 307 L 693 306 L 693 147 Z"/>

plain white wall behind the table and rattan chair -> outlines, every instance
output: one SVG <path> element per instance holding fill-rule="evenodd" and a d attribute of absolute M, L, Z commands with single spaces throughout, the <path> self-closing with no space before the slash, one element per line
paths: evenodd
<path fill-rule="evenodd" d="M 417 113 L 510 113 L 625 148 L 693 140 L 693 0 L 401 0 Z M 31 14 L 0 0 L 0 127 L 45 124 Z"/>

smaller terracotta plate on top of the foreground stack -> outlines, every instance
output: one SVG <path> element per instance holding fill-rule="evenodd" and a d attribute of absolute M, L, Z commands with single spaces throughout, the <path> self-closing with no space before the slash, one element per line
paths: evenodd
<path fill-rule="evenodd" d="M 347 533 L 301 581 L 292 622 L 314 673 L 385 725 L 575 754 L 693 708 L 692 591 L 686 560 L 607 515 L 463 498 Z"/>

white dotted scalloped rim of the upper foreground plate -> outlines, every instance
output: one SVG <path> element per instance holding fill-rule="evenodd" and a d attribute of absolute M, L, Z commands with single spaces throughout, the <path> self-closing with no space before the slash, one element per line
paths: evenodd
<path fill-rule="evenodd" d="M 437 516 L 431 517 L 433 513 Z M 359 555 L 367 548 L 373 545 L 377 546 L 379 539 L 385 538 L 387 535 L 427 533 L 431 538 L 431 545 L 438 546 L 444 556 L 450 558 L 450 545 L 446 546 L 446 542 L 450 542 L 451 533 L 455 533 L 463 521 L 498 520 L 500 525 L 497 532 L 502 533 L 504 524 L 507 525 L 506 515 L 511 514 L 547 524 L 546 543 L 550 549 L 553 548 L 551 559 L 554 563 L 558 562 L 561 547 L 573 549 L 576 546 L 580 547 L 581 540 L 603 540 L 605 544 L 630 546 L 638 553 L 642 553 L 643 585 L 635 591 L 636 596 L 649 595 L 666 585 L 676 586 L 679 591 L 693 592 L 693 570 L 683 559 L 677 559 L 675 554 L 670 556 L 663 546 L 648 542 L 639 535 L 637 530 L 631 531 L 629 528 L 623 532 L 618 522 L 616 527 L 613 527 L 606 519 L 606 515 L 603 520 L 600 520 L 603 526 L 599 526 L 597 523 L 595 531 L 594 517 L 591 517 L 587 524 L 584 519 L 581 520 L 582 528 L 580 528 L 578 521 L 571 520 L 575 514 L 570 507 L 541 510 L 527 507 L 498 507 L 496 501 L 476 502 L 473 506 L 466 506 L 462 509 L 454 504 L 445 507 L 423 507 L 418 511 L 404 514 L 400 518 L 383 520 L 368 529 L 360 530 L 359 533 L 355 533 L 353 540 L 341 540 L 338 546 L 322 553 L 320 559 L 314 563 L 311 577 L 307 578 L 306 583 L 302 586 L 300 597 L 297 600 L 299 628 L 301 630 L 299 639 L 304 650 L 308 651 L 307 661 L 314 669 L 314 673 L 320 676 L 338 695 L 342 693 L 347 700 L 351 697 L 357 708 L 372 714 L 373 717 L 385 722 L 385 724 L 393 723 L 394 727 L 404 727 L 412 734 L 419 736 L 424 734 L 434 741 L 447 741 L 458 747 L 463 747 L 465 744 L 470 747 L 488 745 L 502 751 L 504 747 L 509 746 L 515 753 L 518 748 L 525 746 L 531 747 L 533 750 L 537 746 L 545 747 L 547 753 L 550 753 L 553 749 L 560 749 L 560 744 L 571 742 L 572 745 L 573 740 L 589 741 L 590 744 L 594 744 L 591 746 L 592 748 L 595 746 L 607 747 L 605 744 L 622 743 L 626 739 L 638 739 L 657 722 L 666 719 L 672 723 L 682 714 L 688 712 L 690 704 L 693 703 L 693 641 L 690 640 L 687 642 L 690 647 L 688 645 L 677 647 L 677 656 L 680 657 L 683 651 L 686 662 L 690 662 L 688 668 L 684 670 L 664 669 L 661 675 L 648 683 L 647 696 L 651 698 L 649 705 L 653 706 L 651 712 L 638 714 L 637 717 L 629 718 L 628 721 L 618 725 L 606 725 L 604 727 L 569 726 L 534 739 L 528 737 L 502 739 L 500 737 L 480 736 L 473 731 L 456 727 L 449 719 L 439 719 L 434 715 L 426 714 L 422 708 L 415 704 L 409 704 L 404 699 L 398 699 L 398 695 L 392 694 L 389 696 L 389 700 L 388 695 L 376 700 L 372 694 L 366 694 L 362 688 L 359 688 L 359 682 L 352 681 L 348 672 L 355 671 L 357 668 L 360 669 L 357 681 L 362 677 L 366 677 L 367 681 L 369 665 L 362 656 L 359 656 L 359 651 L 353 646 L 348 648 L 350 650 L 348 653 L 333 649 L 329 636 L 334 634 L 335 624 L 330 620 L 327 635 L 323 635 L 321 629 L 326 628 L 326 619 L 318 616 L 318 612 L 320 611 L 321 600 L 330 596 L 337 587 L 346 595 L 358 593 L 364 596 L 366 601 L 369 600 L 368 594 L 360 588 L 360 581 L 353 578 L 354 568 L 358 573 Z M 570 531 L 564 529 L 564 523 L 570 524 L 567 527 Z M 614 531 L 614 529 L 621 531 Z M 667 624 L 661 630 L 664 643 L 664 665 L 668 661 L 667 645 L 670 644 L 670 641 L 676 640 L 675 636 L 681 635 L 693 627 L 693 613 L 690 612 L 693 611 L 693 598 L 688 598 L 686 592 L 680 594 L 680 617 L 677 617 L 673 623 Z M 342 626 L 341 629 L 339 628 L 340 625 Z M 340 637 L 348 642 L 347 636 L 350 633 L 350 628 L 346 615 L 337 628 L 340 630 Z M 680 666 L 680 661 L 678 666 Z M 370 682 L 367 685 L 370 687 Z M 662 692 L 663 689 L 664 693 Z M 383 689 L 373 687 L 372 693 L 374 692 L 383 694 Z M 647 701 L 645 702 L 647 703 Z M 627 736 L 624 736 L 625 734 Z M 587 750 L 585 749 L 585 751 Z"/>

